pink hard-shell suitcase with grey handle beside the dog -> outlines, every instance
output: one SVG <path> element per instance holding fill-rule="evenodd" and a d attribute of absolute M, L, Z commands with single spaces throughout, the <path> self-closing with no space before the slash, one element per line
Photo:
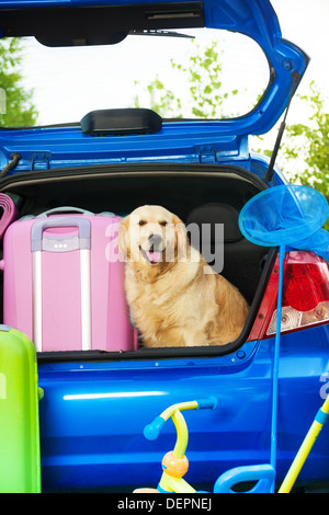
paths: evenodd
<path fill-rule="evenodd" d="M 58 214 L 73 210 L 73 214 Z M 4 233 L 3 323 L 37 352 L 132 351 L 120 217 L 64 207 L 14 221 Z M 57 213 L 57 215 L 55 215 Z"/>

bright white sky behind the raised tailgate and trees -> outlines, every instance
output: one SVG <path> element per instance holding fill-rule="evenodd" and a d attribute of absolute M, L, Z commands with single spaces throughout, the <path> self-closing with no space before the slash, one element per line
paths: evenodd
<path fill-rule="evenodd" d="M 311 59 L 298 93 L 307 94 L 309 82 L 315 80 L 324 96 L 328 99 L 329 107 L 329 0 L 272 0 L 272 4 L 279 16 L 283 37 L 302 47 Z M 227 33 L 225 45 L 230 48 L 229 50 L 226 48 L 223 55 L 227 64 L 225 80 L 228 90 L 237 88 L 242 92 L 246 88 L 247 92 L 243 94 L 249 102 L 249 94 L 257 95 L 261 92 L 266 80 L 262 82 L 263 68 L 252 61 L 249 46 L 243 43 L 240 47 L 235 46 L 235 43 L 231 45 L 234 41 L 231 36 L 235 35 Z M 34 102 L 41 113 L 38 123 L 46 125 L 77 122 L 94 108 L 125 107 L 128 106 L 125 104 L 126 99 L 133 102 L 136 80 L 146 87 L 159 72 L 159 78 L 163 80 L 164 77 L 166 81 L 172 73 L 171 65 L 169 58 L 162 56 L 159 45 L 169 49 L 175 61 L 179 61 L 178 39 L 167 38 L 166 45 L 163 38 L 152 38 L 151 45 L 149 37 L 143 39 L 144 46 L 138 53 L 137 45 L 136 49 L 134 46 L 132 49 L 126 42 L 112 47 L 70 48 L 65 49 L 65 54 L 64 49 L 49 49 L 43 46 L 36 48 L 35 45 L 29 44 L 25 85 L 34 88 Z M 182 43 L 191 46 L 189 39 Z M 143 69 L 145 59 L 143 60 L 141 56 L 146 53 L 150 59 L 148 71 Z M 64 59 L 64 56 L 70 59 Z M 253 73 L 249 72 L 250 69 Z M 180 96 L 184 96 L 183 83 L 174 79 L 173 88 Z M 227 108 L 228 112 L 231 111 L 230 104 Z M 300 108 L 300 102 L 294 101 L 288 123 L 305 122 L 307 115 L 308 113 Z M 269 140 L 271 137 L 273 139 L 275 133 Z"/>

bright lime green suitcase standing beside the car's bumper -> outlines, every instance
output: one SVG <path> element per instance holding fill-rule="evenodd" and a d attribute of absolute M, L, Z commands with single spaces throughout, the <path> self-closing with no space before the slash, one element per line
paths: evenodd
<path fill-rule="evenodd" d="M 37 364 L 33 343 L 0 325 L 0 493 L 39 493 Z"/>

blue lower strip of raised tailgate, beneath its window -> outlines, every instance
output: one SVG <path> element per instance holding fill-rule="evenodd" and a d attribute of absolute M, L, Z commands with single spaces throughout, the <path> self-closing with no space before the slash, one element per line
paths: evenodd
<path fill-rule="evenodd" d="M 22 171 L 129 162 L 220 162 L 248 159 L 247 138 L 219 136 L 213 124 L 168 123 L 158 134 L 94 138 L 80 128 L 0 130 L 0 167 L 20 151 Z"/>

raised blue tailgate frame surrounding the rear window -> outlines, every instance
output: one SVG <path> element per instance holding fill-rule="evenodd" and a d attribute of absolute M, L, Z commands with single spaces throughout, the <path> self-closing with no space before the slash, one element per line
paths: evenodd
<path fill-rule="evenodd" d="M 143 2 L 134 3 L 143 4 Z M 161 4 L 167 5 L 170 3 L 172 2 L 162 2 Z M 157 5 L 158 2 L 149 2 L 149 4 Z M 58 8 L 75 7 L 78 16 L 81 5 L 84 8 L 87 5 L 93 5 L 94 8 L 101 5 L 110 9 L 111 5 L 125 5 L 125 3 L 7 1 L 1 4 L 0 9 L 0 30 L 1 11 L 2 16 L 8 10 L 13 10 L 12 12 L 19 15 L 24 8 L 26 13 L 30 9 L 36 15 L 41 8 L 54 9 L 54 5 Z M 184 2 L 182 2 L 182 5 L 184 5 Z M 46 10 L 45 13 L 47 14 Z M 193 162 L 195 161 L 195 154 L 198 158 L 198 154 L 202 153 L 200 151 L 202 147 L 206 148 L 205 156 L 215 154 L 215 161 L 220 161 L 227 156 L 245 156 L 248 151 L 248 136 L 264 134 L 270 130 L 286 108 L 292 93 L 297 88 L 306 70 L 308 57 L 300 48 L 282 38 L 276 14 L 268 1 L 223 0 L 218 3 L 214 0 L 205 0 L 204 16 L 205 26 L 246 34 L 253 38 L 265 53 L 271 68 L 270 83 L 259 104 L 250 113 L 229 119 L 163 123 L 159 133 L 144 137 L 141 148 L 139 147 L 140 138 L 136 135 L 125 136 L 124 141 L 120 141 L 117 136 L 110 135 L 100 140 L 100 138 L 81 134 L 80 125 L 70 128 L 35 128 L 32 131 L 20 129 L 19 133 L 1 130 L 1 163 L 7 163 L 10 160 L 10 152 L 13 147 L 16 150 L 20 149 L 22 153 L 21 169 L 22 167 L 26 169 L 31 163 L 33 159 L 31 152 L 33 152 L 33 156 L 44 154 L 46 163 L 42 167 L 48 168 L 76 165 L 77 159 L 79 164 L 82 164 L 82 161 L 84 164 L 114 162 L 115 160 L 121 162 L 121 160 L 129 159 L 129 154 L 135 156 L 137 159 L 144 158 L 146 161 L 149 159 L 179 159 Z M 45 19 L 49 18 L 47 15 Z M 16 35 L 15 22 L 12 21 L 11 23 L 13 23 L 13 26 L 10 25 L 11 28 L 8 28 L 8 31 L 10 34 Z M 39 25 L 42 26 L 42 23 Z M 161 22 L 159 22 L 160 25 Z M 31 32 L 33 33 L 33 31 Z M 27 156 L 24 156 L 25 149 Z M 164 149 L 163 153 L 160 149 Z M 60 159 L 58 159 L 58 152 Z M 128 156 L 126 156 L 127 152 Z M 82 157 L 79 159 L 78 154 L 82 154 Z M 205 157 L 204 159 L 208 158 Z"/>

